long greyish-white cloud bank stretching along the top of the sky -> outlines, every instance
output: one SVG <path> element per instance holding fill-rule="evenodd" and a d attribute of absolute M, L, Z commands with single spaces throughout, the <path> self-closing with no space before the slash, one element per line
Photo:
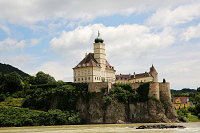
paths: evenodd
<path fill-rule="evenodd" d="M 23 25 L 60 18 L 88 21 L 99 16 L 130 15 L 193 2 L 197 3 L 196 0 L 1 0 L 0 20 Z"/>

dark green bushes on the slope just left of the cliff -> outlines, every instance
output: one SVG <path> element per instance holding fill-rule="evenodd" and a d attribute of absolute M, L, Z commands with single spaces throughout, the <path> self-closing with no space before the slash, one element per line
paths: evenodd
<path fill-rule="evenodd" d="M 79 84 L 80 85 L 80 84 Z M 80 97 L 87 98 L 86 88 L 74 87 L 73 84 L 56 88 L 27 90 L 23 107 L 47 111 L 49 109 L 75 110 Z"/>

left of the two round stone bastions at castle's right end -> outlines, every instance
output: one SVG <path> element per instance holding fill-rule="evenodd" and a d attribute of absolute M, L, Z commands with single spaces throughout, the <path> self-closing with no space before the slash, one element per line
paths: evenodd
<path fill-rule="evenodd" d="M 150 82 L 148 97 L 153 97 L 153 98 L 160 100 L 159 82 Z"/>

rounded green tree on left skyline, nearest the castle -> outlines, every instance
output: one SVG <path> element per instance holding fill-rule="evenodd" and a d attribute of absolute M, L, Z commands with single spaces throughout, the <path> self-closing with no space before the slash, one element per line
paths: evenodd
<path fill-rule="evenodd" d="M 36 84 L 49 84 L 49 83 L 55 83 L 56 80 L 49 74 L 45 74 L 44 72 L 40 71 L 36 74 L 35 82 Z"/>

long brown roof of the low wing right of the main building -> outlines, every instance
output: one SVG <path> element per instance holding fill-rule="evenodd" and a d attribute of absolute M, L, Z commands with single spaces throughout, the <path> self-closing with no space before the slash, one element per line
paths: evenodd
<path fill-rule="evenodd" d="M 116 80 L 129 80 L 129 79 L 138 79 L 138 78 L 145 78 L 145 77 L 151 77 L 151 75 L 148 72 L 139 73 L 135 75 L 120 74 L 120 75 L 116 75 Z"/>

